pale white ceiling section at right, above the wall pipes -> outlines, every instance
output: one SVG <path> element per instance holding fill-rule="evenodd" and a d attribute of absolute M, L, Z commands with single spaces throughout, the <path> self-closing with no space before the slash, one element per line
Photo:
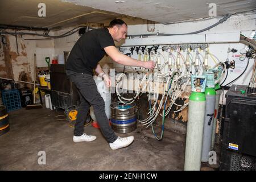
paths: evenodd
<path fill-rule="evenodd" d="M 173 23 L 209 17 L 209 3 L 217 16 L 256 10 L 256 0 L 65 0 L 82 6 L 112 11 L 159 23 Z"/>

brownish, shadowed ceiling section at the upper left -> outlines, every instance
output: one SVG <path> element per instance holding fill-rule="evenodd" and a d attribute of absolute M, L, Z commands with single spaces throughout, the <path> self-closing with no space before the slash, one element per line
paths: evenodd
<path fill-rule="evenodd" d="M 109 23 L 118 13 L 59 0 L 0 0 L 0 24 L 25 27 L 69 27 L 85 23 Z M 46 4 L 46 17 L 39 17 L 39 3 Z"/>

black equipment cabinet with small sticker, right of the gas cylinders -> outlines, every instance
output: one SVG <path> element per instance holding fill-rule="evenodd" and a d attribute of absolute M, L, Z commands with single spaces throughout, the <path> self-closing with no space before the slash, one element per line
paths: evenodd
<path fill-rule="evenodd" d="M 247 91 L 232 85 L 226 93 L 221 170 L 256 170 L 256 94 Z"/>

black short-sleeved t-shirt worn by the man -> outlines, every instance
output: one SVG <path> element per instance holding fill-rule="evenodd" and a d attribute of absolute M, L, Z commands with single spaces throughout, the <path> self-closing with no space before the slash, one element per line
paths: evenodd
<path fill-rule="evenodd" d="M 104 47 L 115 46 L 108 28 L 86 32 L 73 46 L 66 63 L 66 69 L 92 75 L 98 61 L 104 57 Z"/>

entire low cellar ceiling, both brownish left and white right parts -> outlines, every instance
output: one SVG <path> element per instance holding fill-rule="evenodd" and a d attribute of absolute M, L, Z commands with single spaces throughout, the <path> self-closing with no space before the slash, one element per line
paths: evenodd
<path fill-rule="evenodd" d="M 254 11 L 256 7 L 256 0 L 0 1 L 0 24 L 40 28 L 69 27 L 86 23 L 89 26 L 90 23 L 102 26 L 114 18 L 130 18 L 131 23 L 138 24 L 145 23 L 145 20 L 168 24 L 208 18 L 209 3 L 216 3 L 217 16 Z M 38 16 L 40 2 L 46 4 L 46 17 Z"/>

